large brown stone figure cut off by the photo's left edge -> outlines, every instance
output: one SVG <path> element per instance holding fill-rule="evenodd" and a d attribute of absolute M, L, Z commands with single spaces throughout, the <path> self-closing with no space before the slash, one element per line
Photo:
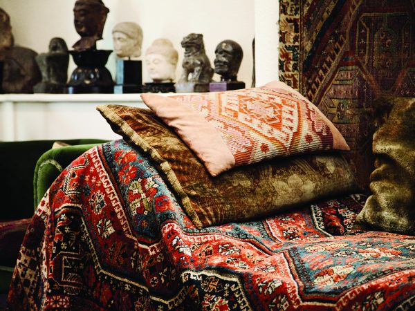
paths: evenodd
<path fill-rule="evenodd" d="M 3 93 L 33 93 L 42 77 L 35 62 L 37 53 L 30 48 L 14 46 L 10 17 L 0 8 L 0 62 L 3 63 Z"/>

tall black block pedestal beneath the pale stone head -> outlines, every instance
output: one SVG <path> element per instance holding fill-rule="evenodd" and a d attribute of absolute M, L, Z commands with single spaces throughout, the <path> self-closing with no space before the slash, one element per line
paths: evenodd
<path fill-rule="evenodd" d="M 116 85 L 114 86 L 114 93 L 141 93 L 141 73 L 141 61 L 117 59 Z"/>

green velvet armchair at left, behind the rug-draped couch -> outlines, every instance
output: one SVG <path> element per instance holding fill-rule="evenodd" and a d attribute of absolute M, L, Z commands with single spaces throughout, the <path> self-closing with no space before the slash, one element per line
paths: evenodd
<path fill-rule="evenodd" d="M 98 139 L 0 142 L 0 294 L 8 292 L 26 227 L 46 189 L 84 151 L 105 142 Z"/>

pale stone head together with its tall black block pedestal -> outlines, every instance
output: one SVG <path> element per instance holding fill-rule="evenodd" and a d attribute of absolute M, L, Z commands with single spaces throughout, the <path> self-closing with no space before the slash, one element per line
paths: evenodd
<path fill-rule="evenodd" d="M 141 93 L 142 29 L 137 23 L 123 21 L 114 26 L 112 33 L 113 46 L 118 57 L 114 93 Z"/>

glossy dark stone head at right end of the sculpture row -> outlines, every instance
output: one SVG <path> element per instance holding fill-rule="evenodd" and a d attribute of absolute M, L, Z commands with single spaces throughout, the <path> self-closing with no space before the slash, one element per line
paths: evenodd
<path fill-rule="evenodd" d="M 214 53 L 214 72 L 221 75 L 221 81 L 237 81 L 243 57 L 241 46 L 235 41 L 223 40 L 216 46 Z"/>

